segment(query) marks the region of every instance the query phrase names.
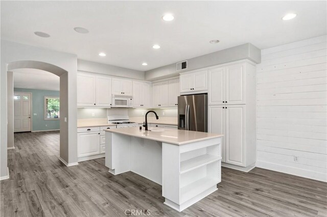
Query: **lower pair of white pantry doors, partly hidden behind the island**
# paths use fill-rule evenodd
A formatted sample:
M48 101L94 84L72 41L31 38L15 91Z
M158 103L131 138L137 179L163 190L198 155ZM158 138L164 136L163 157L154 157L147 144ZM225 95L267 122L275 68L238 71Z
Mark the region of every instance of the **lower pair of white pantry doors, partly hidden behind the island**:
M251 159L246 161L245 109L246 105L208 106L208 132L224 134L222 162L241 167L252 164ZM255 149L252 151L255 152Z

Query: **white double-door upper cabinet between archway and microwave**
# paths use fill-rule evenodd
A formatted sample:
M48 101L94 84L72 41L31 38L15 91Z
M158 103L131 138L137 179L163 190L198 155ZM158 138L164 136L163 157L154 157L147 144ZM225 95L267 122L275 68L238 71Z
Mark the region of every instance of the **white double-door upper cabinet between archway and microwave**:
M78 72L77 106L110 107L111 77Z

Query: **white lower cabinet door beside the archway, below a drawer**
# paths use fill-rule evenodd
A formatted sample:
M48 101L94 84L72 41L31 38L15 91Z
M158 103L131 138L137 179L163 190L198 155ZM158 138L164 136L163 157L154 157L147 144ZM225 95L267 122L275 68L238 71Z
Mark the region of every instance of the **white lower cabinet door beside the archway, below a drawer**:
M99 131L77 133L78 157L100 154Z

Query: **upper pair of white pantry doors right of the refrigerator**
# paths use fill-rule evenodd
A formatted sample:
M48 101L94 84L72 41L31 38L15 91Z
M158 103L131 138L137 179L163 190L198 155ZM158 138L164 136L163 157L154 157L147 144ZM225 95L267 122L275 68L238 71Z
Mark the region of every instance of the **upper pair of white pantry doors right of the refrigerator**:
M208 104L245 104L244 64L208 70Z

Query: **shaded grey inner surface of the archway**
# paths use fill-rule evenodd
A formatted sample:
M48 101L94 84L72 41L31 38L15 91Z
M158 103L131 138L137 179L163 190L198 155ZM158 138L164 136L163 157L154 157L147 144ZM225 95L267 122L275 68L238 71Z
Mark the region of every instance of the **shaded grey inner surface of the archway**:
M60 157L61 160L66 166L68 166L68 75L67 71L49 64L45 62L39 61L15 61L8 63L7 65L7 72L11 72L15 69L21 68L31 68L31 69L39 69L43 71L47 71L53 73L60 78ZM8 103L11 103L8 100ZM10 142L13 143L13 136L14 136L14 128L13 128L13 115L8 116L8 128L7 128L7 135L8 135L8 145ZM12 144L13 145L13 144Z

